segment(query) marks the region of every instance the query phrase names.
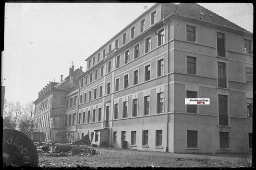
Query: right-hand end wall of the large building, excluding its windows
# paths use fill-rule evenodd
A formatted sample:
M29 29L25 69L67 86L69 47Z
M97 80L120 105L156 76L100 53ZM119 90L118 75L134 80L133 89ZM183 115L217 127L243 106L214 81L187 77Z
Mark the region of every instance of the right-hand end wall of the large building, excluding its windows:
M250 153L246 98L253 98L252 83L245 80L245 67L253 67L253 57L244 54L244 35L175 19L174 24L174 152ZM186 25L195 26L196 42L186 40ZM225 34L226 57L217 57L217 33ZM196 58L195 74L187 73L187 56ZM218 62L226 63L227 88L218 85ZM184 105L186 91L197 98L210 98L210 105L197 105L189 113ZM227 95L228 124L220 125L219 96ZM197 147L188 147L187 131L197 131ZM229 132L228 147L220 148L219 132Z

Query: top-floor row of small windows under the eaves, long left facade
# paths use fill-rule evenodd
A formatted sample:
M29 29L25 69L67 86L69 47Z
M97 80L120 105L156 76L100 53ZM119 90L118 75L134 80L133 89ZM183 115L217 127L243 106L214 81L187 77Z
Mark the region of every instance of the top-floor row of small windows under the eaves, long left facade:
M161 15L162 15L162 13L161 13ZM161 17L162 17L162 16L161 16ZM155 24L156 22L157 22L157 11L153 11L153 12L151 13L151 25ZM140 33L142 33L142 32L145 31L145 25L146 25L145 19L141 20L141 21L140 21ZM159 34L159 33L158 33L158 34ZM126 40L127 40L126 36L127 36L126 33L122 34L122 45L124 45L125 43L127 43L127 42L126 42ZM161 36L163 36L163 35L161 35ZM132 40L134 37L135 37L135 26L133 26L133 27L131 28L131 40ZM119 47L119 38L115 40L115 49L118 48L118 47ZM110 44L108 48L109 48L108 50L109 50L109 53L110 53L111 50L113 50L113 49L112 49L112 44ZM148 52L148 51L147 51L147 52ZM105 56L106 56L106 49L103 49L102 58L105 58ZM98 53L98 56L97 56L97 61L99 62L99 60L100 60L100 53ZM92 63L92 66L95 65L95 57L93 57L91 60L88 61L88 68L91 67L91 63Z

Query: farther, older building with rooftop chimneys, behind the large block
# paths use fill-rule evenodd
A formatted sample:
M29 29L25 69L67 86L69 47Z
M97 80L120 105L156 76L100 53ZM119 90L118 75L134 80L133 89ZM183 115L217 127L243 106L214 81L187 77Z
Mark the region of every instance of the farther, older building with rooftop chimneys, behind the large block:
M69 68L69 76L61 82L49 82L41 91L35 103L35 124L36 130L43 132L43 137L34 137L39 141L65 141L61 132L65 131L64 113L66 95L78 88L79 79L82 74L82 67L74 70ZM34 134L35 135L35 134ZM62 138L61 138L62 137Z

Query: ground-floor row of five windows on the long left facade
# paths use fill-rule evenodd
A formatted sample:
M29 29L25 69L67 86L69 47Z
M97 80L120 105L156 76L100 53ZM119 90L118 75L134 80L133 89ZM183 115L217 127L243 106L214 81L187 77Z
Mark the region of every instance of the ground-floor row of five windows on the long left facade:
M162 130L156 130L156 142L155 146L156 147L161 147L162 146L162 135L163 132ZM113 137L112 137L112 144L116 144L117 140L117 132L113 132ZM126 131L121 132L121 144L123 141L125 141L126 137ZM136 145L136 131L131 131L131 145ZM142 131L142 146L148 146L148 130L143 130Z

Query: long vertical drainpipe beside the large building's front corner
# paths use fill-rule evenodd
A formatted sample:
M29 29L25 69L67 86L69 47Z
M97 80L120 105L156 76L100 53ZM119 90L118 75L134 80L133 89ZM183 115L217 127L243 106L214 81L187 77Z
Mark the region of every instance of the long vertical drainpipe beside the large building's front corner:
M165 6L165 3L164 3ZM165 23L165 16L164 16L164 6L163 6L163 23ZM167 102L167 112L166 112L166 152L168 152L168 145L169 145L169 117L168 117L168 112L169 112L169 24L165 23L167 25L167 78L166 78L166 84L167 84L167 97L166 97L166 102Z

